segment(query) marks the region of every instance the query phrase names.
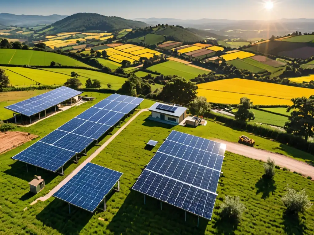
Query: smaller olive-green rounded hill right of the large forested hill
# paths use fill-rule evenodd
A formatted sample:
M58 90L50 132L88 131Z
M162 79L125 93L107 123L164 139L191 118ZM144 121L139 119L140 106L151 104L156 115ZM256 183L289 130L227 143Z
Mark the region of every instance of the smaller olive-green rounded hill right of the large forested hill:
M197 42L204 40L205 37L202 37L198 34L195 34L187 29L176 26L167 26L164 28L158 28L155 31L156 34L170 36L174 40L179 42Z

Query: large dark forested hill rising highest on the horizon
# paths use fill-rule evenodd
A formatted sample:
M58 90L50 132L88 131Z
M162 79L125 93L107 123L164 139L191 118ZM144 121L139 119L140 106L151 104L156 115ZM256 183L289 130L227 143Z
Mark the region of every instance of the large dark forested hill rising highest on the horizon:
M96 13L76 13L51 24L51 26L54 28L49 33L87 30L108 31L112 29L143 28L148 25L141 21L128 20L116 16L104 16ZM49 25L46 28L50 28L51 26Z

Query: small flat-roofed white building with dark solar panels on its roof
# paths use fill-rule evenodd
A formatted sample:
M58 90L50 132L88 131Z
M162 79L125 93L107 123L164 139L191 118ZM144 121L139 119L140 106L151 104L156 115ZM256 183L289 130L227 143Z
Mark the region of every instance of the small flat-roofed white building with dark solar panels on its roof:
M178 125L187 117L187 108L159 102L154 103L148 110L152 112L149 119L171 125Z

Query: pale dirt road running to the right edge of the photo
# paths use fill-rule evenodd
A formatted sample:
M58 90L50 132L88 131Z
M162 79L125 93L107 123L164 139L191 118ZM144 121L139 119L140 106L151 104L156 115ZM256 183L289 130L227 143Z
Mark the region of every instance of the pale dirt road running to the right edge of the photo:
M305 162L301 162L301 161L286 157L284 155L275 154L266 150L255 149L255 148L243 145L243 144L232 143L232 142L228 142L221 139L215 139L215 141L222 144L226 144L227 145L226 150L231 153L243 155L245 157L252 158L252 159L262 160L265 162L267 161L267 157L270 157L271 159L275 160L276 165L279 165L281 167L286 167L290 169L291 171L296 171L306 176L311 176L314 179L314 167L306 164Z

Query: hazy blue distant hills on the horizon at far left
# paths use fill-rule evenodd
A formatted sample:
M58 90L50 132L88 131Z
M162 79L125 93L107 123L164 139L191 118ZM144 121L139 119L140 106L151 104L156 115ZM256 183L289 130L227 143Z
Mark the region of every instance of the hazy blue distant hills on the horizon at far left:
M64 15L14 15L9 13L0 13L0 23L4 25L17 26L35 26L37 24L52 24L67 16Z

